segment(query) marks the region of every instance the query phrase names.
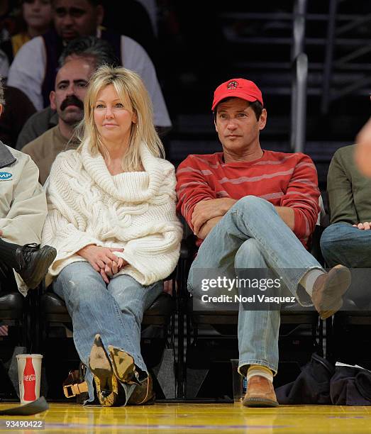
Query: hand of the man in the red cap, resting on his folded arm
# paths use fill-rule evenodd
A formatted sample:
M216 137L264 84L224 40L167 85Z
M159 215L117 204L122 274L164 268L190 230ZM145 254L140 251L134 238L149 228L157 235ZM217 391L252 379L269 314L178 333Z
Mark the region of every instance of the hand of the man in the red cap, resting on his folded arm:
M199 236L199 231L201 227L204 226L205 223L207 223L207 221L209 221L211 218L223 217L224 214L228 211L228 209L231 208L234 204L236 204L236 202L236 199L230 199L228 197L222 199L209 199L206 201L199 201L199 203L194 207L191 219L194 235L201 238ZM214 226L212 227L214 228Z

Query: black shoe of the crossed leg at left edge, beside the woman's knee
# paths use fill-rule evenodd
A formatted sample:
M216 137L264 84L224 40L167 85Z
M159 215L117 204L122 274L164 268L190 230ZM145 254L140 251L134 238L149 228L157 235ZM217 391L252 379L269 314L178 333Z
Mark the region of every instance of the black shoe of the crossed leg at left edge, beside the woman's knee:
M16 250L18 269L16 272L30 289L35 289L45 277L48 268L57 256L57 250L50 245L40 248L38 244L26 244Z

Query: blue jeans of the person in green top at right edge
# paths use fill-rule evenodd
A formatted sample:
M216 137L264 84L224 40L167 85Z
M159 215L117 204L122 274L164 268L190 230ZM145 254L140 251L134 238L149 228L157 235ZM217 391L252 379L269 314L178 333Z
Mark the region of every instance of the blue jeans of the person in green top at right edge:
M323 231L321 250L328 267L371 268L371 230L333 223Z

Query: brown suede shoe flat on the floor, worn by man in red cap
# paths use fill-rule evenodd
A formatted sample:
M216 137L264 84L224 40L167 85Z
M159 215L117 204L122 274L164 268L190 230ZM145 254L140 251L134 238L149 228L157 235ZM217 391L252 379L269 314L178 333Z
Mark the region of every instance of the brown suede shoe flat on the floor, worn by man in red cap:
M260 375L250 377L242 404L245 407L277 407L278 402L272 382Z

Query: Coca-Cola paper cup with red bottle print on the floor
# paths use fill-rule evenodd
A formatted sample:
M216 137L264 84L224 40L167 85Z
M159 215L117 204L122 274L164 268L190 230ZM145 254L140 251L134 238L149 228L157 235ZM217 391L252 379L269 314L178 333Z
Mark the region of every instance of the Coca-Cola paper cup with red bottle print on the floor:
M40 354L18 354L18 383L21 404L28 404L40 397L41 360Z

